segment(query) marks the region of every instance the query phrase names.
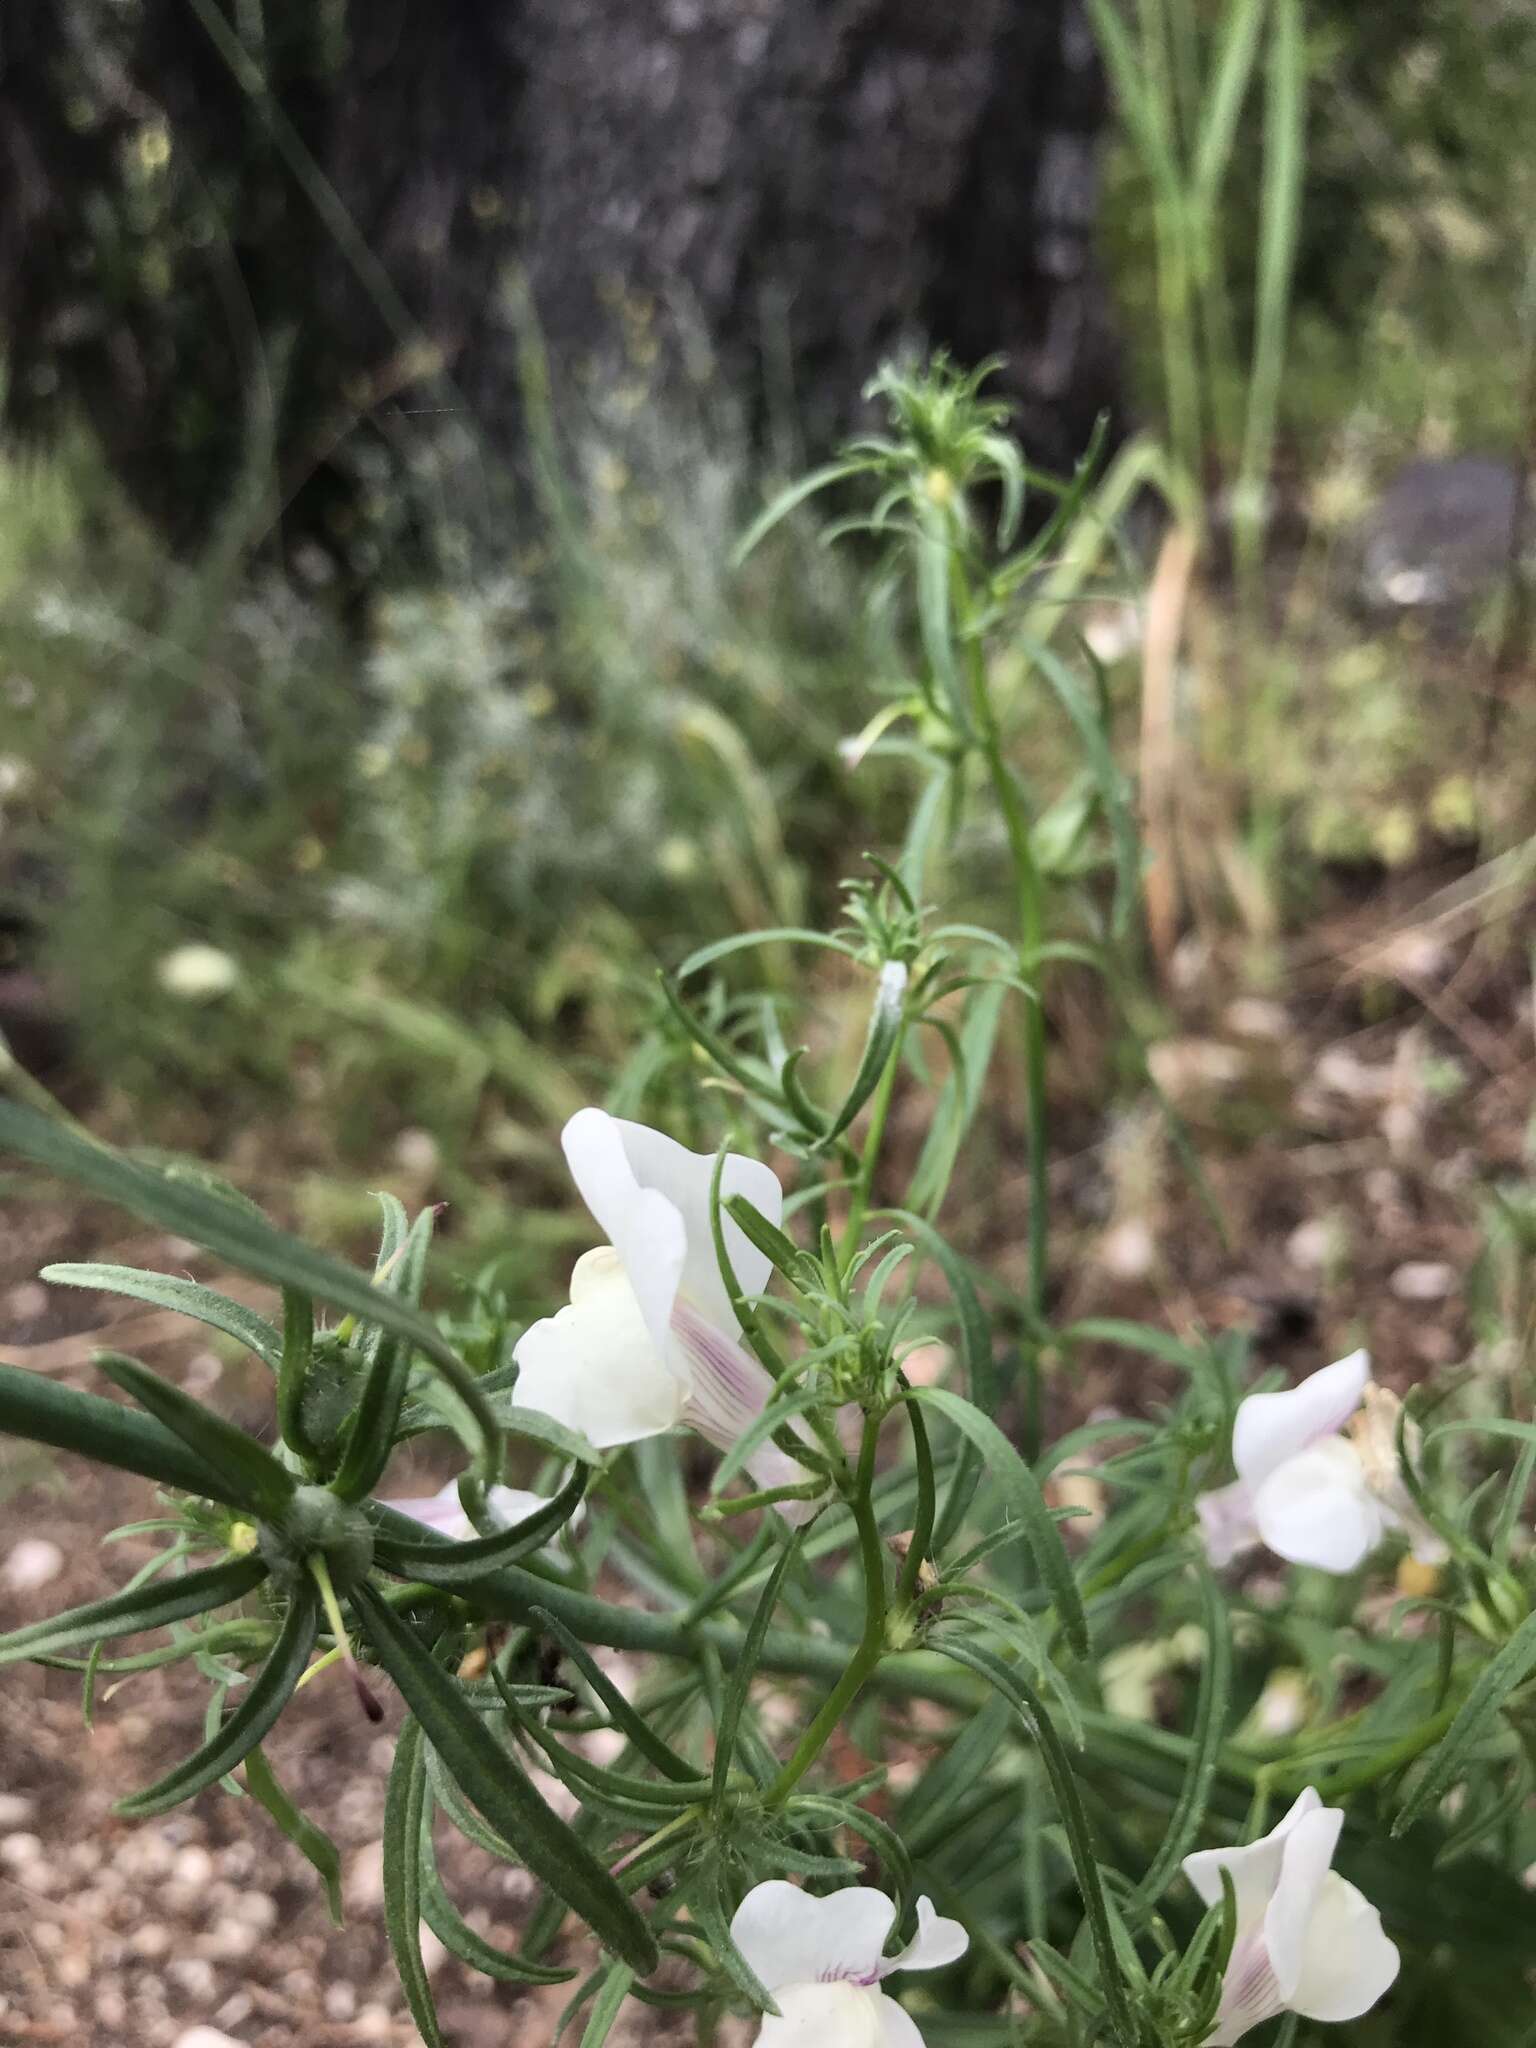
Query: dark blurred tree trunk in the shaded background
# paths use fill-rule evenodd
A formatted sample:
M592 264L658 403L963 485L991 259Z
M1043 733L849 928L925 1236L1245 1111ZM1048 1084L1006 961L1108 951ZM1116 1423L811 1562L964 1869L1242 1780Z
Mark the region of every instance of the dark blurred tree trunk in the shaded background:
M516 446L516 272L569 385L752 399L768 342L819 446L891 350L995 352L1063 467L1100 117L1081 0L6 0L8 416L84 406L182 543L268 459L336 543L401 412Z

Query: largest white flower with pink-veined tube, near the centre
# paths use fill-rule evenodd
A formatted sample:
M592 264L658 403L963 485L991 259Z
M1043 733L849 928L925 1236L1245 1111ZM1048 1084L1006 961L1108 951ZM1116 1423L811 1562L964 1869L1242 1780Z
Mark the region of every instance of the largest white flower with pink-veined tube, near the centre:
M774 1380L741 1348L715 1260L715 1159L604 1110L578 1110L561 1145L608 1243L575 1262L569 1309L518 1339L514 1401L580 1430L598 1448L686 1423L729 1450L772 1399ZM774 1225L784 1212L772 1169L737 1153L721 1171L721 1200L733 1194ZM741 1292L762 1294L768 1257L729 1217L721 1223ZM762 1444L748 1470L760 1487L811 1477L774 1444ZM813 1509L811 1501L784 1501L791 1520Z

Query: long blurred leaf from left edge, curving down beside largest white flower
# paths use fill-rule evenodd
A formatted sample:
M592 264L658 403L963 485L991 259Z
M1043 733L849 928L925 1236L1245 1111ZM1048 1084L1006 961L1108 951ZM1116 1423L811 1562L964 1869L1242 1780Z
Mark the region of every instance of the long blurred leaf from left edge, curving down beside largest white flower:
M209 1188L186 1171L143 1165L115 1153L37 1110L0 1102L0 1149L14 1151L61 1180L117 1202L147 1223L229 1260L242 1272L274 1286L293 1286L315 1300L371 1317L408 1337L453 1384L479 1432L477 1454L487 1481L496 1479L500 1434L475 1374L446 1341L432 1317L373 1286L352 1266L328 1257L303 1239L279 1231L246 1200Z

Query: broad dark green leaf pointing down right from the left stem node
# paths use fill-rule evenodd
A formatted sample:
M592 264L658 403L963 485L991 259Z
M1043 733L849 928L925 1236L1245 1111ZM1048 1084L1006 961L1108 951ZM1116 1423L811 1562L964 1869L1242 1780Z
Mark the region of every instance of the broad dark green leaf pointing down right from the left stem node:
M461 1688L369 1587L352 1608L399 1686L442 1763L528 1870L582 1915L598 1939L645 1976L655 1968L655 1937L633 1903L586 1843L535 1792L526 1772L485 1729ZM414 1858L412 1858L414 1864Z

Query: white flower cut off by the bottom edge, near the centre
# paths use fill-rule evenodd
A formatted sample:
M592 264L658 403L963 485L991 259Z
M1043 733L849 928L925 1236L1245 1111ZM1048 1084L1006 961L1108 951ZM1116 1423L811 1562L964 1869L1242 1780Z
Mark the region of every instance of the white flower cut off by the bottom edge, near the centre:
M915 1939L887 1956L893 1921L895 1905L864 1884L825 1898L782 1878L754 1884L735 1909L731 1939L780 2015L764 2017L758 2048L924 2048L881 1980L893 1970L940 1970L965 1954L969 1935L920 1898Z

